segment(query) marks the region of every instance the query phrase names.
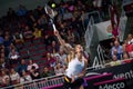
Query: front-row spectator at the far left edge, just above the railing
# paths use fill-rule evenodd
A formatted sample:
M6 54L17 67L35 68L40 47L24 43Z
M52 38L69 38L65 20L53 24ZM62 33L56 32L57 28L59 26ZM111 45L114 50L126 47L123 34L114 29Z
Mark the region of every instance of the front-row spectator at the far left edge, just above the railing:
M9 86L10 85L10 77L7 75L4 70L1 71L1 85Z

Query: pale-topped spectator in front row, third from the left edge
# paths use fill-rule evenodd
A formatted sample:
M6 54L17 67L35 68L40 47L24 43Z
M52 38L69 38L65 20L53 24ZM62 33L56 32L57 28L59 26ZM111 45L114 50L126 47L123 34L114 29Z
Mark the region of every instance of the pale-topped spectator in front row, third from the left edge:
M27 81L32 81L31 76L27 71L22 70L21 75L22 76L20 78L20 83L23 83L23 82L27 82Z

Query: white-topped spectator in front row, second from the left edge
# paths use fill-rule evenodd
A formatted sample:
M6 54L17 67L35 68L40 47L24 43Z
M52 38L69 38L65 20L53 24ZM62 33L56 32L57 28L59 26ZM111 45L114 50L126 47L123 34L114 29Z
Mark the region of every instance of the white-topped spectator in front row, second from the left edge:
M13 68L11 68L10 78L12 85L17 85L20 82L20 75Z

